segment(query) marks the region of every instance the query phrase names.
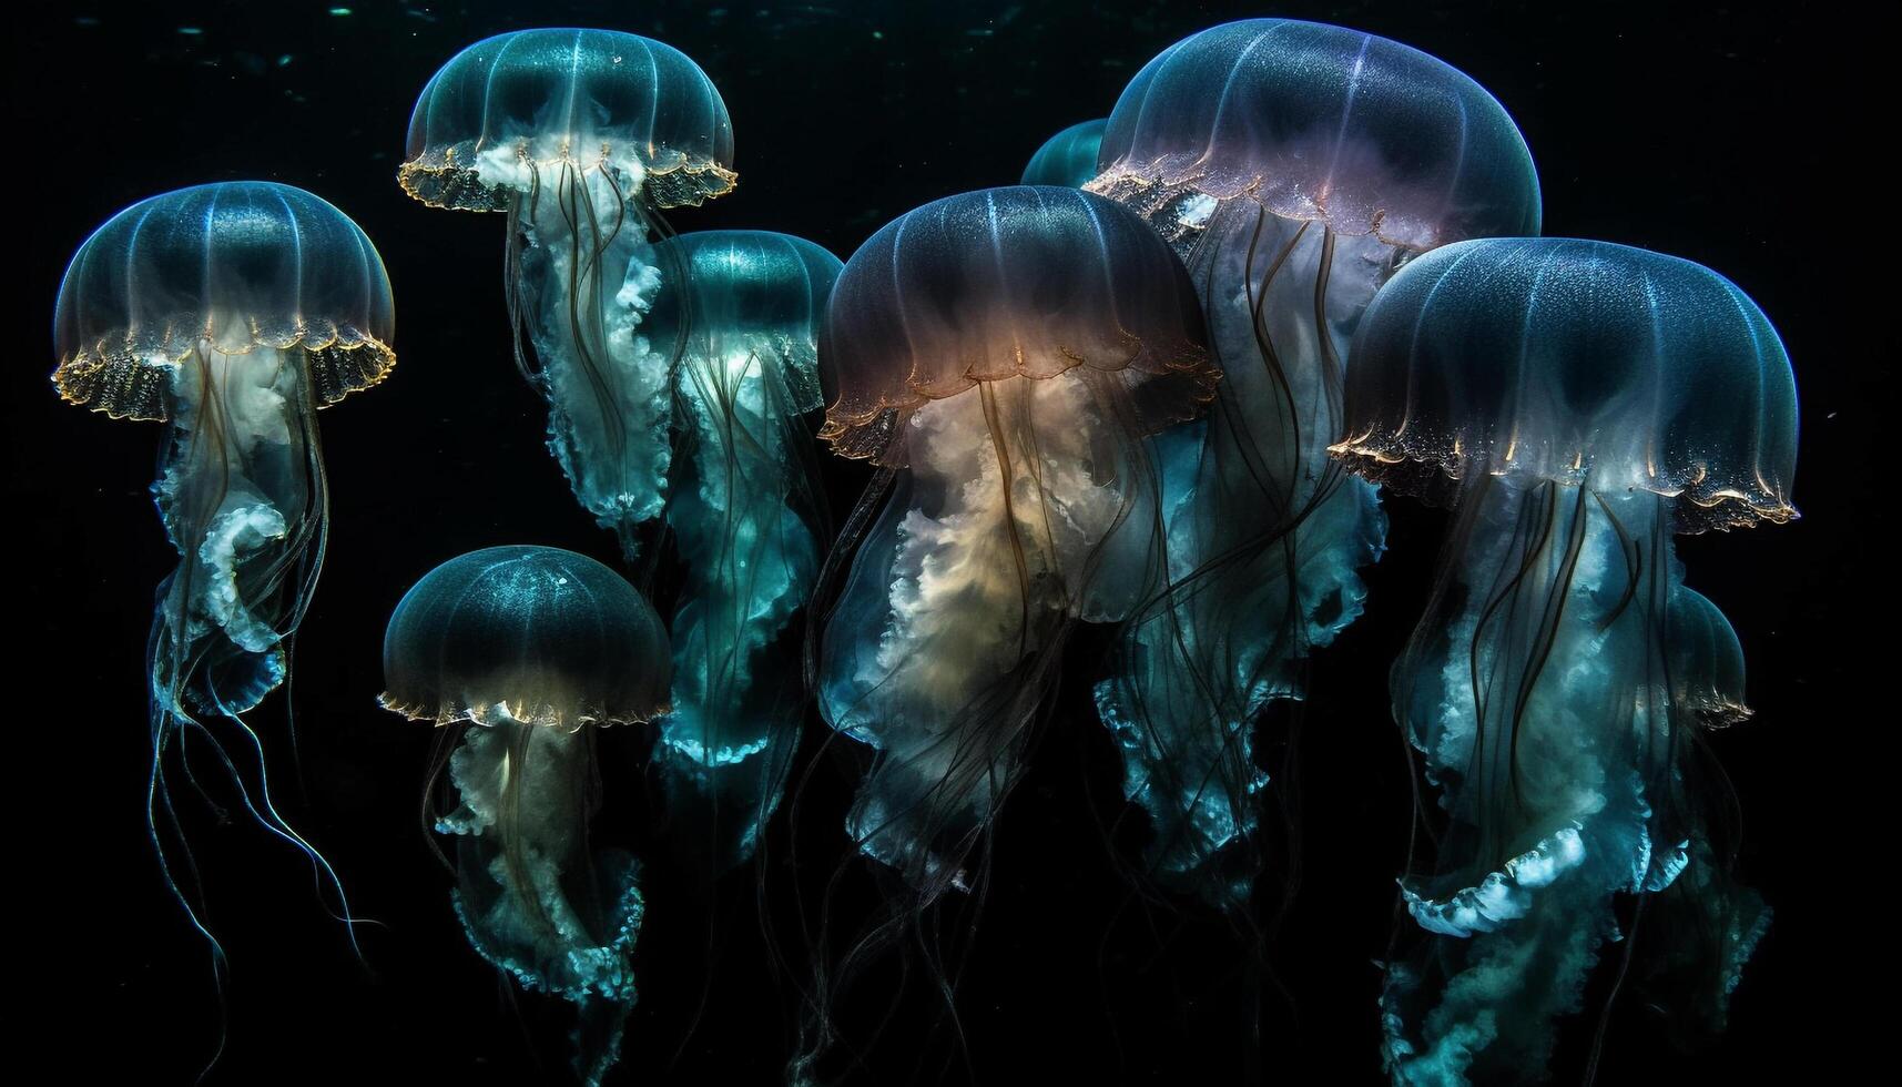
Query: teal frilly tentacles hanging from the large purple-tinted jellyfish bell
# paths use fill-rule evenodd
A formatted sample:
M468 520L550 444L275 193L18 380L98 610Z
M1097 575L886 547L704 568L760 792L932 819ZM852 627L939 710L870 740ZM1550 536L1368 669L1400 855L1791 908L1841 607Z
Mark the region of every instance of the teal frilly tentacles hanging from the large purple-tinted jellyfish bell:
M1301 699L1309 655L1360 617L1358 567L1387 533L1375 489L1326 451L1343 343L1377 282L1358 272L1383 253L1246 198L1196 223L1179 247L1212 291L1225 381L1204 425L1156 438L1172 600L1126 628L1096 697L1151 817L1147 870L1238 908L1261 868L1255 721Z

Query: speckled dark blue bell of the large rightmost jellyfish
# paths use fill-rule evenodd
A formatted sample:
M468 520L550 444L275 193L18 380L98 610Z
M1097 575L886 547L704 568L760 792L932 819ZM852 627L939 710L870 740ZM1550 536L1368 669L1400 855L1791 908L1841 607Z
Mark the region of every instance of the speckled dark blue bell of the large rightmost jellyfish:
M1354 472L1434 504L1482 476L1628 495L1683 533L1797 516L1795 377L1723 276L1571 238L1465 242L1413 265L1354 341L1369 354L1333 447Z

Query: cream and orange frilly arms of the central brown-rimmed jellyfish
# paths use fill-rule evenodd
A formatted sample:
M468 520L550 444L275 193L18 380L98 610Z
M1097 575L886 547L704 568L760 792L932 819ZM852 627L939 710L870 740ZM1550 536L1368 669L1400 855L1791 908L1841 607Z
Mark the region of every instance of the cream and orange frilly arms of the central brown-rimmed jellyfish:
M1153 466L1077 423L1113 426L1128 390L1073 371L978 392L915 413L822 661L827 720L879 752L854 841L926 895L968 881L1069 626L1120 619L1158 581Z

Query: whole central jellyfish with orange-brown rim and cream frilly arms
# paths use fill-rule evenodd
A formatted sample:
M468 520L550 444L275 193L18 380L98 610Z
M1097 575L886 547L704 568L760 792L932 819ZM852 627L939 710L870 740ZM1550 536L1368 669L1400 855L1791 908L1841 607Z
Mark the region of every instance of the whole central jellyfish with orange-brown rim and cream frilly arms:
M1215 383L1181 265L1073 188L989 188L871 236L833 289L820 367L835 451L884 508L818 661L820 710L877 750L860 849L932 900L1021 771L1075 621L1162 577L1145 434Z

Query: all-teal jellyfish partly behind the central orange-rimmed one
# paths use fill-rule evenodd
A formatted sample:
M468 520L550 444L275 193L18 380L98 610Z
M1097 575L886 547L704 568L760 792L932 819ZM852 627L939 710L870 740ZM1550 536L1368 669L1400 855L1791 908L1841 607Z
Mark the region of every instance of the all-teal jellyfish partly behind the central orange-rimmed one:
M825 501L814 421L818 322L839 257L765 230L656 246L649 324L681 345L666 525L681 556L673 712L656 763L670 811L706 811L713 857L749 857L786 784L805 718L799 626L820 565ZM675 286L681 284L681 286Z

